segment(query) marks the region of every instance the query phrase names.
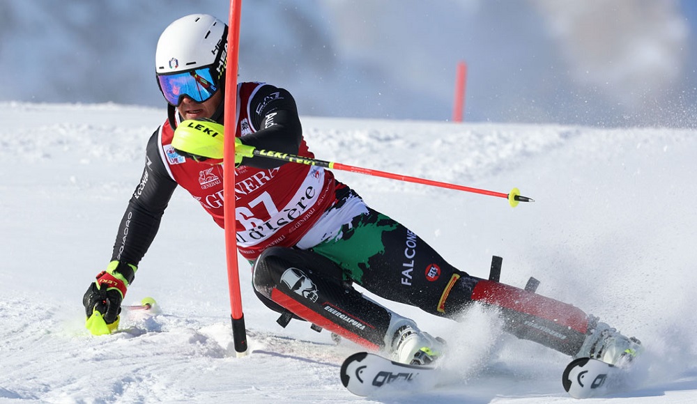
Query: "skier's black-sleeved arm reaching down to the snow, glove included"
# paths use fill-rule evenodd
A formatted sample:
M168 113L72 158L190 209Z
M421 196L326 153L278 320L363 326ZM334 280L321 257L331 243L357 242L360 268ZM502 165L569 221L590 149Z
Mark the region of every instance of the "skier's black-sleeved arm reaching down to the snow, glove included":
M156 131L148 141L143 175L118 226L111 262L107 270L97 275L82 298L86 327L92 334L109 334L118 327L118 313L126 289L155 239L164 209L176 189L176 182L160 158L159 147Z

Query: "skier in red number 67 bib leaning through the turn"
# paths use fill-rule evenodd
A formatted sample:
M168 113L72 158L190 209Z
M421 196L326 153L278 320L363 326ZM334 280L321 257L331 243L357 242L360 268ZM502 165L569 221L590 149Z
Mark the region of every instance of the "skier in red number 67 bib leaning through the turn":
M204 14L171 23L158 41L155 75L167 119L152 134L139 185L121 219L111 262L87 289L86 327L118 326L121 302L153 242L177 186L224 226L223 124L236 128L238 251L252 263L254 291L281 313L307 320L403 363L428 364L445 344L415 322L369 300L457 318L475 302L500 311L507 332L572 357L615 364L641 349L576 307L470 276L418 235L369 207L332 172L254 157L253 148L314 157L293 96L256 82L237 87L236 122L223 122L227 25Z

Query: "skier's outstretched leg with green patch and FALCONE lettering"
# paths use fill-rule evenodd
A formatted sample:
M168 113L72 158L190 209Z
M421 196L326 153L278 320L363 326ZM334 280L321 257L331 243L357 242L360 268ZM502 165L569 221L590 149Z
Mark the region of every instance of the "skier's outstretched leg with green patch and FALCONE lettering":
M571 304L470 277L418 235L372 209L312 250L339 263L347 277L376 295L448 318L457 318L473 302L487 304L500 311L507 332L567 355L599 356L608 352L602 348L607 340L600 336L602 329L619 335Z

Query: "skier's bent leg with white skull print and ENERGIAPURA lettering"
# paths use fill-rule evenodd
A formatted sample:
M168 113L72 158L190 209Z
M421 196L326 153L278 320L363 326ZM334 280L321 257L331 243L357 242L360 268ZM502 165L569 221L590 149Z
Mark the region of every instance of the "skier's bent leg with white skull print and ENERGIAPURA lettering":
M254 263L254 289L267 306L410 363L415 352L441 343L415 323L367 299L341 280L342 270L309 251L272 247Z

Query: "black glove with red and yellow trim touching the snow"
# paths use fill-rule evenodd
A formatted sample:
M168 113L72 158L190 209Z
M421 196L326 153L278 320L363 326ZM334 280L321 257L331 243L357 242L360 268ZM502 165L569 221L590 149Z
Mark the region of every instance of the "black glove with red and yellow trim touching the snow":
M110 334L118 327L121 302L136 271L135 265L112 261L87 288L82 304L87 316L85 326L92 334Z

